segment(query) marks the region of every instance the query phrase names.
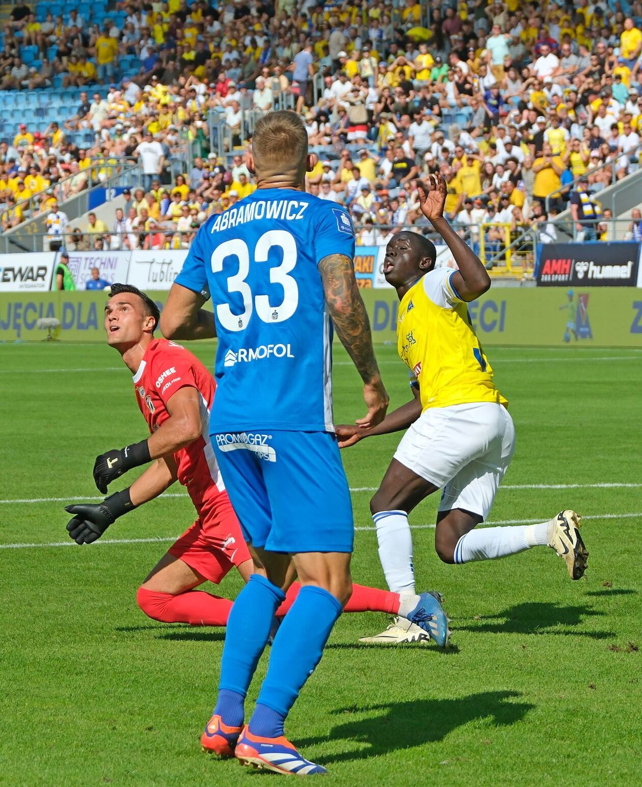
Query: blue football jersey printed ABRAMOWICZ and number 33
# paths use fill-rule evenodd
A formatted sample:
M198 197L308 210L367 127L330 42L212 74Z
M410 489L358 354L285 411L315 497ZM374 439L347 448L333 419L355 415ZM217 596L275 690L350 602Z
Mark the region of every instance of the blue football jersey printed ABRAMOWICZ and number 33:
M196 234L176 283L212 299L218 390L212 433L332 431L332 322L317 264L354 257L347 211L259 189Z

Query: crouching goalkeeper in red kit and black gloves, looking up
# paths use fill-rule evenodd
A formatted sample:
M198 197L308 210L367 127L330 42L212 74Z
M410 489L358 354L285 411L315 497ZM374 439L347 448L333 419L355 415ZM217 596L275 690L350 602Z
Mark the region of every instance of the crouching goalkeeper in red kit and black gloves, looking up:
M209 439L216 384L189 350L154 338L159 316L154 301L141 290L112 284L105 306L107 343L134 375L136 401L150 437L97 456L94 480L98 490L107 493L123 473L153 464L131 486L100 504L68 505L65 510L74 516L67 530L77 544L90 544L119 516L178 480L192 499L197 519L142 583L138 605L150 618L166 623L225 626L233 602L195 588L207 580L218 584L233 566L247 581L254 567ZM288 611L298 591L295 582L277 615ZM400 603L398 593L353 585L345 611L397 615ZM417 634L420 638L429 641L428 634Z

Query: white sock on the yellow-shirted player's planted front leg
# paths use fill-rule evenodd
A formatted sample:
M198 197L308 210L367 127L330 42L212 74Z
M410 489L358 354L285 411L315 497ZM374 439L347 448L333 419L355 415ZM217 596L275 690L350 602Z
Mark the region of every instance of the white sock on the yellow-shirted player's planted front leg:
M405 511L372 514L379 541L379 558L388 587L394 593L415 593L413 536Z

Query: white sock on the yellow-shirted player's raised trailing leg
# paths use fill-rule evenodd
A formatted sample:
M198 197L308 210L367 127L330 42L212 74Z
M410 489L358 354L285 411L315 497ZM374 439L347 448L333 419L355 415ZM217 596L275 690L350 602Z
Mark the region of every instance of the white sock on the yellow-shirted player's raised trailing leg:
M464 534L455 547L455 563L497 560L532 546L546 546L548 522L515 527L482 527Z

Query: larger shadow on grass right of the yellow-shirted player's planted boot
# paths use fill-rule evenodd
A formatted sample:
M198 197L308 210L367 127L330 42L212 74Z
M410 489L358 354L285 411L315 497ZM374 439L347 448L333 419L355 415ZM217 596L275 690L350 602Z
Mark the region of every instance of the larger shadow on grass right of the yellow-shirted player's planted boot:
M571 607L554 602L536 601L516 604L497 615L487 615L477 625L454 626L456 631L486 632L488 634L563 634L592 639L613 637L611 631L554 631L555 626L581 626L585 618L603 615L590 607Z

